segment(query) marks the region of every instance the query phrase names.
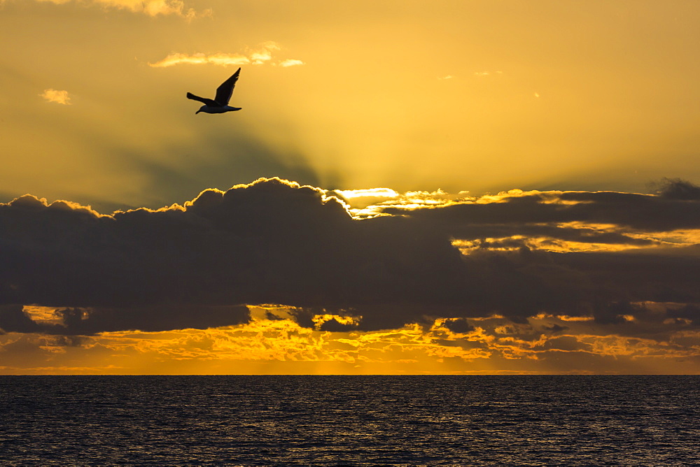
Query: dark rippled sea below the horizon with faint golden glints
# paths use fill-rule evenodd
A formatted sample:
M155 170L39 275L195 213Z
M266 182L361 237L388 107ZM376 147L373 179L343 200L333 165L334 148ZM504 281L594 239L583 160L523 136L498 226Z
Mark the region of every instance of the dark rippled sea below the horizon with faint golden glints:
M698 376L3 376L0 464L694 464Z

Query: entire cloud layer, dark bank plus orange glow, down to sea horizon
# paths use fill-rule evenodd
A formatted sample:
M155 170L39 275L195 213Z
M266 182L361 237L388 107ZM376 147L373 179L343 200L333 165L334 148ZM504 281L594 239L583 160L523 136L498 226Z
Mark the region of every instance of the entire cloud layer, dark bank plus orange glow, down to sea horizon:
M114 371L689 371L699 203L682 180L475 198L273 178L112 215L21 196L0 204L3 352Z

